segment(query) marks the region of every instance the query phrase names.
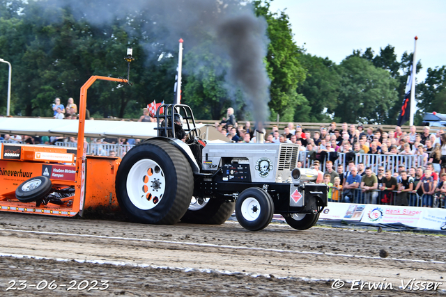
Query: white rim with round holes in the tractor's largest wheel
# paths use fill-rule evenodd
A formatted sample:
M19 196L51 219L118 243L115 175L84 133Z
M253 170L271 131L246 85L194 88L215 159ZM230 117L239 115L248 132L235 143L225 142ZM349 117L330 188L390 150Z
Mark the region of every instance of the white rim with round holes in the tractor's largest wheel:
M128 172L128 198L139 209L153 209L162 200L165 189L164 172L161 166L151 159L137 161Z

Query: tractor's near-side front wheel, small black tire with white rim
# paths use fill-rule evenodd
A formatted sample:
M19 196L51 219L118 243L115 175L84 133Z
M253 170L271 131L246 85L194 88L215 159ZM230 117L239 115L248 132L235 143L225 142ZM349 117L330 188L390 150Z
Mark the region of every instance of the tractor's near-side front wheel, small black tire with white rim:
M247 230L259 231L271 223L274 202L262 188L247 188L238 195L236 217L238 223Z

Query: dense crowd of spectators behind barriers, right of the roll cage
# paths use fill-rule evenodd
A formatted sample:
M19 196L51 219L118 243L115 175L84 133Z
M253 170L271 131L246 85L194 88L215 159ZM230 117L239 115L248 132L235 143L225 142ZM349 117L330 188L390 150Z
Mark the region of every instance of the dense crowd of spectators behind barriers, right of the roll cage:
M215 128L233 142L256 142L257 129L250 122L238 125L235 119L224 118L222 122L215 122ZM330 186L330 201L445 208L446 134L443 129L435 134L427 126L422 133L417 133L415 126L409 132L401 131L399 126L383 131L346 122L338 129L332 122L318 131L309 131L290 122L283 129L272 126L268 134L265 129L261 130L264 143L300 145L305 154L304 163L324 172L324 182ZM345 155L344 162L337 162L334 168L339 154ZM371 156L367 159L369 163L355 163L357 154ZM403 156L417 158L409 167ZM298 167L301 166L302 160L298 162ZM372 166L378 168L377 172Z

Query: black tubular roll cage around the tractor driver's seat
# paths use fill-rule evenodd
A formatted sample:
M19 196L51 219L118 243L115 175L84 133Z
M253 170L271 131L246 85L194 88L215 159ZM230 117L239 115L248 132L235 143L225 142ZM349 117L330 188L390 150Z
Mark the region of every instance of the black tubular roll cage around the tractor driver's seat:
M164 109L164 113L162 114L160 114L161 109ZM172 125L175 122L175 113L179 113L183 117L183 120L185 120L185 123L183 122L183 129L186 133L197 129L194 113L192 113L192 109L189 106L185 104L161 104L158 106L155 115L157 120L157 127L155 129L157 130L158 136L171 136L175 138L175 129L174 125ZM184 124L187 125L187 128L184 127Z

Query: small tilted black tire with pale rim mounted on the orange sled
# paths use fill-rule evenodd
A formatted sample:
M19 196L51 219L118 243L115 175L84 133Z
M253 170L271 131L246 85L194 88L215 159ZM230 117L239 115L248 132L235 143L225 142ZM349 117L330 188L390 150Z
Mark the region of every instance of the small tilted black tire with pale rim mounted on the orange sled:
M52 182L48 177L31 177L15 190L15 198L20 202L33 202L47 197L52 191Z

